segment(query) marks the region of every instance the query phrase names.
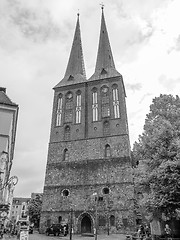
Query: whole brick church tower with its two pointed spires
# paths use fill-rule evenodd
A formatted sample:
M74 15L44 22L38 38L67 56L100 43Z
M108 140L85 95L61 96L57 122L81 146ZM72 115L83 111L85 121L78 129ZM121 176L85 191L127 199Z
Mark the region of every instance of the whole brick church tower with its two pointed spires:
M41 231L67 222L74 233L134 227L134 187L122 75L116 70L102 7L94 74L87 80L79 15L54 103ZM70 227L71 228L71 227Z

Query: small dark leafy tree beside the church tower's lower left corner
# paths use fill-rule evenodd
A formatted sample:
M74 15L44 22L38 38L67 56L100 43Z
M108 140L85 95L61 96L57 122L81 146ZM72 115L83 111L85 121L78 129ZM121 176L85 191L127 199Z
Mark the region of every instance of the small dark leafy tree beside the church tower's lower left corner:
M30 222L34 223L35 227L39 227L40 215L42 208L42 199L39 194L36 194L36 197L30 200L28 206L28 214Z

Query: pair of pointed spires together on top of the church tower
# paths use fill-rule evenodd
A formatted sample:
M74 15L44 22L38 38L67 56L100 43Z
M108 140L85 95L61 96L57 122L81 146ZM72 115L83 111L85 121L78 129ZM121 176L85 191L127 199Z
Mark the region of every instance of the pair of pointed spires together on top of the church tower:
M79 13L77 15L76 29L67 69L64 78L55 86L55 88L87 81L81 43ZM118 71L115 69L102 7L101 29L96 67L94 74L88 79L88 81L115 76L120 76L120 73L118 73Z

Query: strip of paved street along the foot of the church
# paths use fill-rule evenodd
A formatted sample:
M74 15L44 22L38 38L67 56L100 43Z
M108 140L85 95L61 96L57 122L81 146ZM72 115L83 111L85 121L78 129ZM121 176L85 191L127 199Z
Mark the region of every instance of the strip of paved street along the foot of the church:
M16 237L8 237L4 236L3 240L16 240ZM69 235L64 237L54 237L54 236L46 236L45 234L33 233L29 235L29 240L69 240ZM123 234L111 234L111 235L98 235L97 240L125 240L126 236ZM72 240L94 240L94 237L84 237L81 235L73 235Z

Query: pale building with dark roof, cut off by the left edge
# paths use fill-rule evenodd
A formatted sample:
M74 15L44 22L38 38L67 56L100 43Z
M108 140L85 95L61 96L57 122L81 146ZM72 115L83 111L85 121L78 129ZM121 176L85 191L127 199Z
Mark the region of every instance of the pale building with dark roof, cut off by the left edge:
M18 105L6 94L6 88L0 87L0 204L11 203L15 177L11 182L10 171L14 157ZM1 212L1 208L0 208Z

